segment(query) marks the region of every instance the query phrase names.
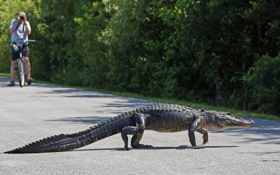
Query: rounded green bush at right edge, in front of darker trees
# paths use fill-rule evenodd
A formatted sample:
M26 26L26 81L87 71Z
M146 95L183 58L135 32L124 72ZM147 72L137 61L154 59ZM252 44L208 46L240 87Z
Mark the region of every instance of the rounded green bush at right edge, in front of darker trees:
M246 81L251 85L253 106L280 115L280 55L262 56L251 68Z

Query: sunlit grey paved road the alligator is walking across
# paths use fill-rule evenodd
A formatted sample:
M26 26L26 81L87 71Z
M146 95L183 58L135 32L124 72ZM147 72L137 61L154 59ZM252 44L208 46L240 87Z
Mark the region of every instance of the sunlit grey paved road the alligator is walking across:
M4 87L0 78L0 174L279 174L280 123L209 133L209 144L189 149L186 132L146 131L151 149L122 151L120 134L76 151L3 154L54 134L85 130L139 106L141 99L34 83ZM200 134L197 142L201 143ZM187 146L186 146L187 144Z

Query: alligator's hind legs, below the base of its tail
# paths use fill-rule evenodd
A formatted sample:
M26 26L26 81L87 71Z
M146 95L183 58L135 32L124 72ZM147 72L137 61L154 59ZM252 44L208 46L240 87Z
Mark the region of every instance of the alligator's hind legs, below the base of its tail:
M123 141L125 142L125 150L127 150L127 151L130 150L128 148L127 134L133 134L133 137L131 140L131 146L133 148L151 148L151 147L153 147L151 145L139 144L139 142L143 136L144 130L145 130L145 115L142 113L136 113L135 119L136 119L137 127L127 126L127 127L123 127L123 129L121 131Z

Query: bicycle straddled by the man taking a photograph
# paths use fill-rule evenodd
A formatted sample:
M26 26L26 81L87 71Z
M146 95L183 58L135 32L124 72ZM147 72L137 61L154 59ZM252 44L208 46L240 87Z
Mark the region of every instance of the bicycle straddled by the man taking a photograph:
M23 60L22 57L22 51L27 47L29 42L36 42L35 40L29 40L23 43L22 45L17 45L16 41L12 43L13 52L19 53L19 57L17 58L17 65L18 67L15 67L15 70L18 72L18 81L20 83L20 87L25 86L25 60Z

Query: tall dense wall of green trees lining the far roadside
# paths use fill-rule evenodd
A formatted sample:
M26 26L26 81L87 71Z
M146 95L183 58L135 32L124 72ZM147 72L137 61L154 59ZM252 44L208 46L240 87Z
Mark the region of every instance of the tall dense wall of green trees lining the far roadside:
M35 78L275 113L276 101L261 105L264 93L245 76L262 55L280 51L280 1L0 0L0 5L0 71L9 70L4 41L10 20L25 10L30 38L38 41L31 45Z

